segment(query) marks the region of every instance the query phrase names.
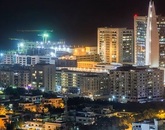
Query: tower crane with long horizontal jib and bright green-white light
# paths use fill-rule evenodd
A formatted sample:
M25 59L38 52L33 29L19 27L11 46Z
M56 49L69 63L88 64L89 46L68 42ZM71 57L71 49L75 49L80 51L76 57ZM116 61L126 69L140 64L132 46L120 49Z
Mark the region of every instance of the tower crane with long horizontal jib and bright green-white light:
M44 43L47 43L47 39L49 37L48 33L52 33L53 30L17 30L18 32L42 32L42 34L38 34L41 36Z

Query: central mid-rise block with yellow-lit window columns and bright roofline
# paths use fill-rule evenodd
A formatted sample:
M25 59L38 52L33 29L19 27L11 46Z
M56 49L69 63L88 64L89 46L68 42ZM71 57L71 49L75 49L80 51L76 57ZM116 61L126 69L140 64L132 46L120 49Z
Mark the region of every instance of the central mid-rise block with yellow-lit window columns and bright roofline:
M63 91L64 88L67 91L70 88L79 88L81 93L107 94L107 75L107 71L101 69L97 71L83 68L59 69L56 71L56 91Z

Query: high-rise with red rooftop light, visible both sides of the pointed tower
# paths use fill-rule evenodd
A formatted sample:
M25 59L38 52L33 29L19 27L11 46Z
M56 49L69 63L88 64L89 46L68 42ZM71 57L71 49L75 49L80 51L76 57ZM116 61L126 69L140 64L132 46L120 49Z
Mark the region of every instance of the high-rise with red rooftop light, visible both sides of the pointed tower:
M159 34L159 67L165 67L165 17L157 16ZM134 16L135 64L145 65L147 16Z

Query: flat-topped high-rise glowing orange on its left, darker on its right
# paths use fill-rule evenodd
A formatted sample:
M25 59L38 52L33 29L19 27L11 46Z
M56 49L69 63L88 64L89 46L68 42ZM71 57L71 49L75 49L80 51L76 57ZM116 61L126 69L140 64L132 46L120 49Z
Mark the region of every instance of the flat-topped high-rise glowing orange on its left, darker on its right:
M98 28L97 53L103 63L133 63L133 30Z

